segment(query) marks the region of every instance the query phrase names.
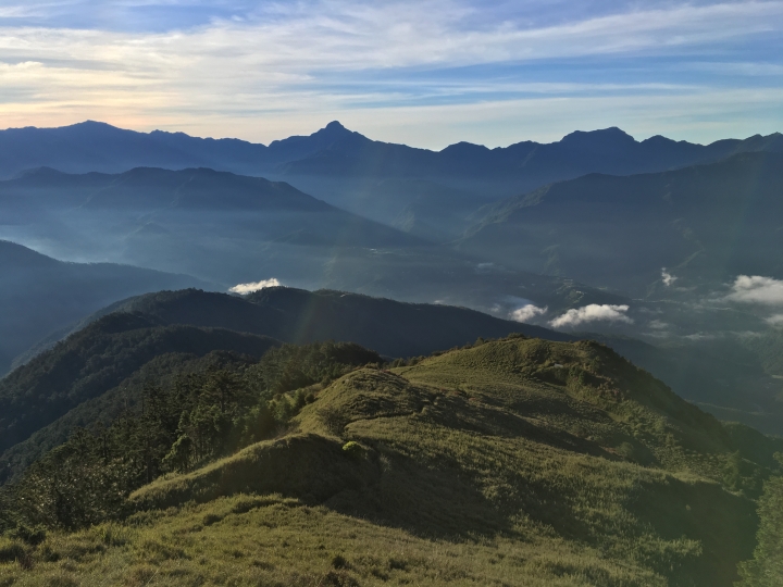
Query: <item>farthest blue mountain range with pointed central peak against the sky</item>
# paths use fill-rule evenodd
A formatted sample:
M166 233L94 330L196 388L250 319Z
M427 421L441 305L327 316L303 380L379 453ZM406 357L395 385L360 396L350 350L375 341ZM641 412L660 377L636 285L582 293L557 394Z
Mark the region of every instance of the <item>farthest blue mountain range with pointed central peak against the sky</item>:
M701 146L660 136L636 141L619 128L607 128L572 133L551 143L523 141L488 149L460 142L431 151L371 140L338 122L269 146L85 122L0 132L0 176L39 166L111 174L140 166L211 167L283 179L371 220L449 240L478 207L551 182L588 173L660 172L756 151L783 151L783 136Z

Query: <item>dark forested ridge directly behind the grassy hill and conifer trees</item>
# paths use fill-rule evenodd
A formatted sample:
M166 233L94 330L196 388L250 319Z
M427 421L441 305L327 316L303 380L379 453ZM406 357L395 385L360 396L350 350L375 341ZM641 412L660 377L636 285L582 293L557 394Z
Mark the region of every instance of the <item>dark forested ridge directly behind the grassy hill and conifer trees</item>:
M136 402L144 386L126 382L164 355L226 351L260 357L274 341L343 340L389 357L430 354L523 332L571 337L472 310L409 304L339 291L268 288L247 298L201 290L162 291L115 303L0 379L0 462L11 471L63 442L77 427L110 422L116 396ZM112 396L112 397L113 397ZM103 402L103 403L101 403ZM103 408L100 405L103 404Z

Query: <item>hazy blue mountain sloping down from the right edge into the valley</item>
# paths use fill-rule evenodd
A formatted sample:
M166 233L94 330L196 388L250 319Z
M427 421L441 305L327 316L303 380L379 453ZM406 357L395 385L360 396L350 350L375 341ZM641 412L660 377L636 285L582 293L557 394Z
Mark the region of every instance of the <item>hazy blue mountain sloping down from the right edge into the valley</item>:
M783 278L781 193L783 153L591 174L487 207L458 248L634 297L676 297L738 274ZM661 267L676 287L663 283Z

